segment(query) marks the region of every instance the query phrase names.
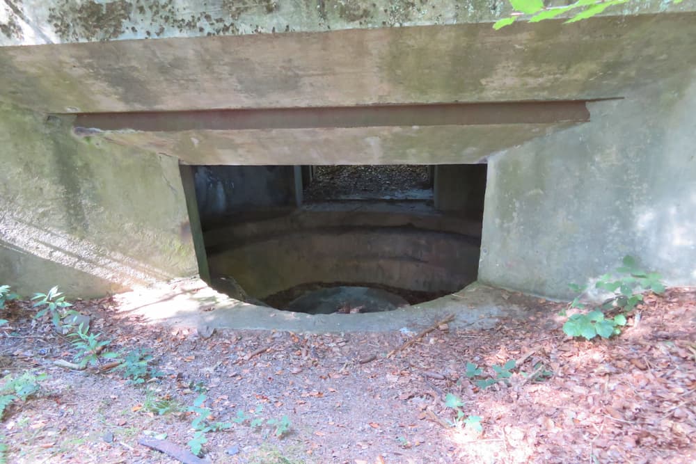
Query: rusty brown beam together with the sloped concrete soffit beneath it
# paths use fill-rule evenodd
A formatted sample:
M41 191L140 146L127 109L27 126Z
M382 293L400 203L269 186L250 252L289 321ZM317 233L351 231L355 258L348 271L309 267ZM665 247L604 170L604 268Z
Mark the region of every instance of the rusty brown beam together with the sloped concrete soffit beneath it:
M590 119L585 102L86 113L83 138L189 164L477 163Z

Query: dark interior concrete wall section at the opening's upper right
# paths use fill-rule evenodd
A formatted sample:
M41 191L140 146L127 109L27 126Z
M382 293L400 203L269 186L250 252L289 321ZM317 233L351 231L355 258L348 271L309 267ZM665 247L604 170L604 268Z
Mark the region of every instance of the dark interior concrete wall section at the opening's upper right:
M482 216L487 165L439 164L434 169L435 208Z

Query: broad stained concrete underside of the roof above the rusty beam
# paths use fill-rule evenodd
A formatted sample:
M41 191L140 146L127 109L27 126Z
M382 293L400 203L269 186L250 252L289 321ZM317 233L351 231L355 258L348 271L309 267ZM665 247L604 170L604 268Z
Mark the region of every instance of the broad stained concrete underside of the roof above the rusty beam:
M0 98L56 113L597 99L685 69L695 43L696 13L665 13L0 47Z

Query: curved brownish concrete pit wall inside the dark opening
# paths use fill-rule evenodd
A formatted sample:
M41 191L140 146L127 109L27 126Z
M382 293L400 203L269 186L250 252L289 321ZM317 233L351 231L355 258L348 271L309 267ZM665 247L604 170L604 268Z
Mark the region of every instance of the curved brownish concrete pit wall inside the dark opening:
M359 285L420 296L413 304L476 280L480 223L425 206L372 205L373 211L362 212L331 207L207 232L213 285L224 291L220 278L233 278L261 301L294 287Z

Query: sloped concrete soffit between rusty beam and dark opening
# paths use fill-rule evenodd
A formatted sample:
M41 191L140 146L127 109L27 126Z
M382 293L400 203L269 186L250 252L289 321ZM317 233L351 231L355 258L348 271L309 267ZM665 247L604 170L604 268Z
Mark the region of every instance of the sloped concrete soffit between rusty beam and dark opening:
M583 123L584 124L584 123ZM205 165L477 163L574 123L90 134Z

